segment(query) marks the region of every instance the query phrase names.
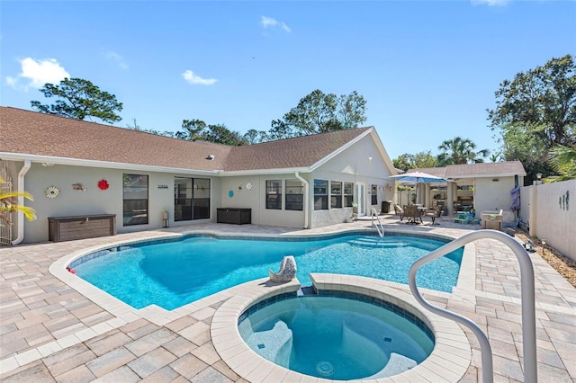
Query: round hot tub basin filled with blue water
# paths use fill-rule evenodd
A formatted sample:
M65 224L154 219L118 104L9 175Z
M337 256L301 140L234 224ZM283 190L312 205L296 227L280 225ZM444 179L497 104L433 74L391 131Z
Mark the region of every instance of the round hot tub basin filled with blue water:
M401 307L329 295L259 302L239 317L240 336L268 361L334 380L396 375L416 367L434 349L428 327Z

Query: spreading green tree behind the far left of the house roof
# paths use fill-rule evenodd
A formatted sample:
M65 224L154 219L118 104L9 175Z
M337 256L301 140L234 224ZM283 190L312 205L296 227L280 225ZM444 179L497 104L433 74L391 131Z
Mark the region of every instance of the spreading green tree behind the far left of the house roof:
M47 114L56 114L76 120L90 120L92 118L114 123L121 117L115 111L122 110L122 103L116 96L103 92L98 86L81 78L65 78L59 85L46 84L40 88L45 97L59 97L51 105L42 105L39 101L32 101L31 107Z

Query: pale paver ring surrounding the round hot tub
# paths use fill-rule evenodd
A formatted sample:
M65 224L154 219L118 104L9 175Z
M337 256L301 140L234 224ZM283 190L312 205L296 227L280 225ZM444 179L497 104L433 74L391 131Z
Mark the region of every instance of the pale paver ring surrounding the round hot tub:
M317 289L354 292L382 299L418 316L432 330L435 347L425 361L411 370L387 378L357 379L366 383L394 381L457 382L472 362L472 348L464 331L454 322L419 308L408 286L400 283L343 274L311 273ZM247 381L330 382L333 380L303 375L267 361L252 351L238 331L238 317L250 306L285 292L300 289L297 280L275 284L266 278L236 286L236 294L226 300L214 313L211 322L211 341L222 361Z

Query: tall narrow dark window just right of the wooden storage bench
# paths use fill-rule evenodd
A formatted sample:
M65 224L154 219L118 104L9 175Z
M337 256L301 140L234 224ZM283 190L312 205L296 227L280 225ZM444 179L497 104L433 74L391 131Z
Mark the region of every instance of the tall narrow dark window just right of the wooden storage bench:
M124 174L122 198L123 225L148 224L148 175Z

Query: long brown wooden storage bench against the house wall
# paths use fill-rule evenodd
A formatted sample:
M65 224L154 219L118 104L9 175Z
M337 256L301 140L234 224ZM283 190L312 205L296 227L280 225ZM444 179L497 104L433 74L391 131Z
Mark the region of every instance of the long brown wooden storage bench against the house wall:
M115 235L115 214L48 218L48 237L53 242Z

